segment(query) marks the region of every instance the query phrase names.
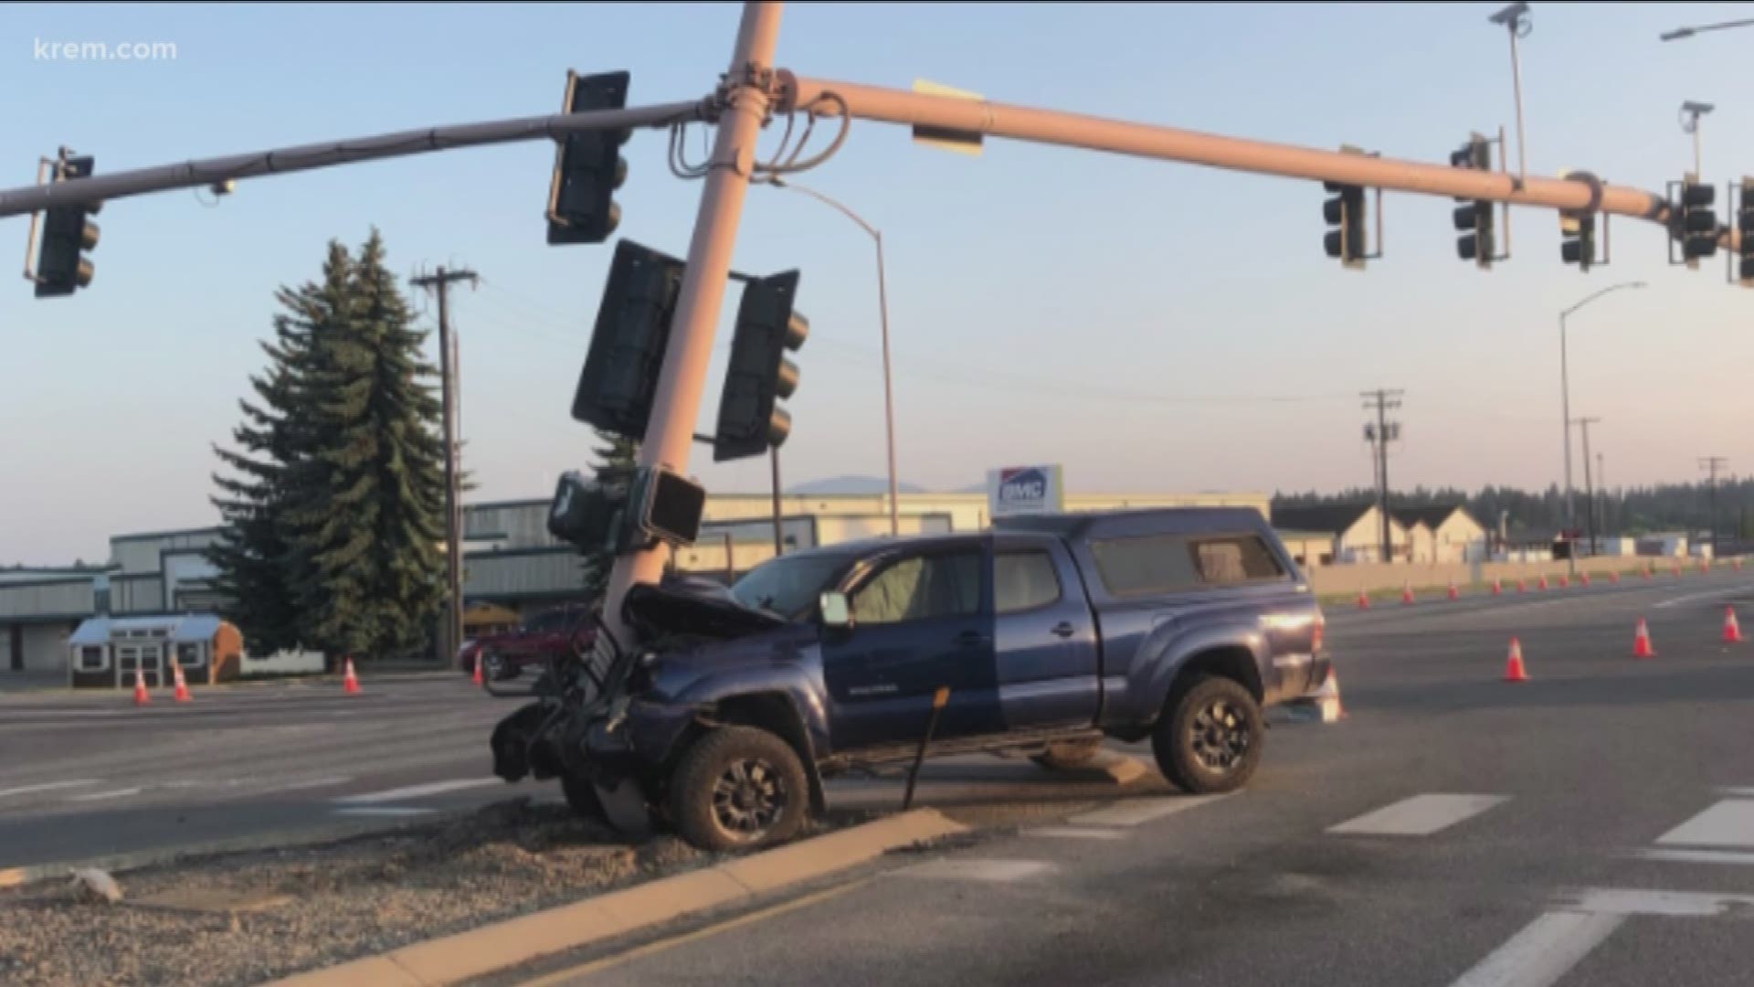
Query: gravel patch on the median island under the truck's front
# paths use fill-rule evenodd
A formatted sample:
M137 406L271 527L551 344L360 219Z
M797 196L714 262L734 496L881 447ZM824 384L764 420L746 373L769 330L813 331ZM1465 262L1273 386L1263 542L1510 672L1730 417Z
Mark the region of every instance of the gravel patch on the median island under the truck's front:
M393 834L118 875L116 904L70 882L0 892L0 983L242 987L710 862L672 836L628 845L563 804L514 799ZM293 901L261 911L130 904L189 889Z

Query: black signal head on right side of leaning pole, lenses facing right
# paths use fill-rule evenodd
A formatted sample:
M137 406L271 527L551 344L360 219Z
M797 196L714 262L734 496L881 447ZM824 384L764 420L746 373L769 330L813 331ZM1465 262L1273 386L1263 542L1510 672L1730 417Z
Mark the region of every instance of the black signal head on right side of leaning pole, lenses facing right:
M791 434L791 414L779 402L798 388L798 367L786 353L803 346L810 335L810 320L793 311L796 295L796 270L744 285L724 393L719 397L714 462L761 455Z

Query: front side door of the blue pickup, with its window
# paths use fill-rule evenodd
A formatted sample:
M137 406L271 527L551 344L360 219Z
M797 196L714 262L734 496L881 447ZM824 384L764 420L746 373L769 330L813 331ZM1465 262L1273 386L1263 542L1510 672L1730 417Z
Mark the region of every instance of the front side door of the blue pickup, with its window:
M852 625L823 639L837 752L917 741L940 687L951 697L937 738L1003 729L989 551L963 543L896 553L851 588Z

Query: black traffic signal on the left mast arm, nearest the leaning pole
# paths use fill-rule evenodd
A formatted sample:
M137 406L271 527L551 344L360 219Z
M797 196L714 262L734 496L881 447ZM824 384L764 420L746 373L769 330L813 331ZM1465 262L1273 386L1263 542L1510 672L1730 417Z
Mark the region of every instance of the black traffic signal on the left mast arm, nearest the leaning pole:
M567 72L565 112L621 109L628 105L628 74L577 76ZM600 244L621 223L614 191L628 177L621 146L626 128L568 133L554 149L549 183L549 244Z

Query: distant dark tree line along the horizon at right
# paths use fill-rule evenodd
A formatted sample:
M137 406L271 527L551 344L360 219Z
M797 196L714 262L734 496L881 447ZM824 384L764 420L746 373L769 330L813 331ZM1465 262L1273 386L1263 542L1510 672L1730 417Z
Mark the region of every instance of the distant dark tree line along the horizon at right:
M1577 527L1586 527L1589 497L1575 490ZM1337 494L1273 494L1273 508L1314 508L1328 504L1373 504L1375 490L1351 488ZM1454 486L1398 490L1393 506L1463 504L1477 522L1498 530L1500 513L1517 530L1559 530L1565 527L1565 492L1554 483L1540 492L1515 486L1482 486L1466 492ZM1754 478L1717 481L1717 532L1724 537L1754 537ZM1638 536L1665 530L1712 530L1712 492L1707 481L1658 483L1654 486L1617 486L1596 490L1596 527L1603 534Z

